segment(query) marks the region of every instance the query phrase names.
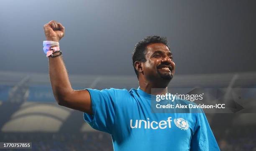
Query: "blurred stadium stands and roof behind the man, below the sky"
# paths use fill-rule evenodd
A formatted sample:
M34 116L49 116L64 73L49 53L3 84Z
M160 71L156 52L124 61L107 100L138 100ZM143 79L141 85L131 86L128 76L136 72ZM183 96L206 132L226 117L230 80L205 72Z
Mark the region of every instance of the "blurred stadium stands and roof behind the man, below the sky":
M228 87L256 88L256 72L175 76L170 88ZM135 76L70 75L74 89L138 86ZM112 151L109 134L92 129L81 111L56 104L49 75L0 72L0 141L32 141L35 151ZM4 79L4 80L2 80ZM125 86L125 87L124 87ZM256 106L256 102L251 102ZM243 111L243 110L241 110ZM256 114L206 114L219 146L224 151L255 150ZM141 142L143 143L143 142Z

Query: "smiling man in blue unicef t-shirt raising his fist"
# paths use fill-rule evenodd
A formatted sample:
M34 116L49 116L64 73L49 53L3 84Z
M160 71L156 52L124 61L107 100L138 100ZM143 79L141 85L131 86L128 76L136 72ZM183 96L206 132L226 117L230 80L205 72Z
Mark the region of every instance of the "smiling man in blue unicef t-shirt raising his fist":
M59 42L64 27L44 25L46 39ZM54 47L54 46L53 46ZM218 151L203 113L151 112L151 89L167 93L175 64L167 40L146 37L136 44L133 67L138 89L73 90L62 57L49 57L49 74L59 105L84 112L92 128L111 134L115 151Z

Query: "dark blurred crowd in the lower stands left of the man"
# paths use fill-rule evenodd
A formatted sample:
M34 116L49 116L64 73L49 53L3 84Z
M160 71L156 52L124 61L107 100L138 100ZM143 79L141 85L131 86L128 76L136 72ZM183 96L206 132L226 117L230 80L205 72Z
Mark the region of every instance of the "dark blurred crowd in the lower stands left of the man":
M1 141L32 142L32 151L113 151L109 134L4 134ZM26 150L26 149L22 149ZM27 149L31 151L31 149ZM1 149L0 149L1 151ZM5 151L7 151L5 149ZM17 151L9 149L8 151Z

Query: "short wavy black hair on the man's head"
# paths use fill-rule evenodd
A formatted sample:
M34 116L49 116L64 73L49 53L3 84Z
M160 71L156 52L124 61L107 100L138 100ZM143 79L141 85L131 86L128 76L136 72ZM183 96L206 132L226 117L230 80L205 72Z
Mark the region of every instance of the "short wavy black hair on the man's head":
M134 62L136 62L136 61L146 62L146 57L145 57L146 47L147 47L147 45L153 44L153 43L162 43L162 44L166 45L168 47L168 49L170 50L166 37L152 35L152 36L145 37L143 40L139 41L135 45L135 48L132 53L133 54L133 68L134 68L134 71L135 71L137 77L138 77L138 71L136 70L136 68L134 66Z

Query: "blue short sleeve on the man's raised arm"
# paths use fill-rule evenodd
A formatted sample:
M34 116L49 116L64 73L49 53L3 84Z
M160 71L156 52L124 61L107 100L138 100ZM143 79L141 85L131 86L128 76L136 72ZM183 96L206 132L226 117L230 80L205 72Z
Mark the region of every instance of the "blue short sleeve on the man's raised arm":
M84 120L93 129L111 134L115 120L115 90L87 90L91 96L92 115L84 113Z

